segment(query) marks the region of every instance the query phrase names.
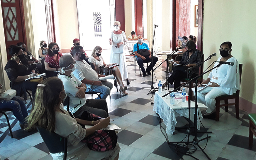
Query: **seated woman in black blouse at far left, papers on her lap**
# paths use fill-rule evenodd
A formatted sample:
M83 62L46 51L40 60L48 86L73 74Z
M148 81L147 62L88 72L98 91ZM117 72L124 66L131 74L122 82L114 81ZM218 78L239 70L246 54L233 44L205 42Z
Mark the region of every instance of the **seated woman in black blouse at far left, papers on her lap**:
M27 100L26 90L32 91L34 98L39 83L25 81L25 79L36 76L35 70L23 59L24 53L21 47L11 45L8 49L12 58L7 62L4 70L11 81L10 85L12 89L16 90L17 96L24 94L25 100Z

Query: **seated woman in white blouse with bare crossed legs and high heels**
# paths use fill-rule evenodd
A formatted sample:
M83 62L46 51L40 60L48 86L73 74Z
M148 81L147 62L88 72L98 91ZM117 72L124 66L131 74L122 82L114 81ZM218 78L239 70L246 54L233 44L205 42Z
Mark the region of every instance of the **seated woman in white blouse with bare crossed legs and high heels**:
M89 62L94 65L94 69L97 73L99 73L101 67L109 68L109 66L116 64L116 63L105 64L103 58L101 57L101 52L102 52L102 48L100 46L96 46L93 49L93 52L91 53L91 57L88 59ZM113 75L117 79L117 83L120 86L119 92L125 96L128 95L128 93L125 92L127 90L127 86L125 86L122 81L122 76L121 76L120 70L118 69L117 66L115 66L112 68L112 71L113 71Z

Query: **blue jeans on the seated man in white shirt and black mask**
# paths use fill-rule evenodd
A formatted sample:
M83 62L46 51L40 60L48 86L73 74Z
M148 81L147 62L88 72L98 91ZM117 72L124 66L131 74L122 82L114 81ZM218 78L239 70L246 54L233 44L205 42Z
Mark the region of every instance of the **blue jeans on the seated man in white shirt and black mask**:
M86 92L100 92L101 99L106 99L110 95L110 90L113 88L113 84L108 81L101 81L103 85L92 85L87 87ZM99 97L95 99L100 99Z

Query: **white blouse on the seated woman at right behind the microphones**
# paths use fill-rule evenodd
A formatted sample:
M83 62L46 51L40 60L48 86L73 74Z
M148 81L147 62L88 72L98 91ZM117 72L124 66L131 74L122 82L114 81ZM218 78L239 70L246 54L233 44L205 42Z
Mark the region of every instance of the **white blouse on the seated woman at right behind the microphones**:
M221 58L222 57L219 57L218 61L220 61ZM239 63L234 57L228 59L227 62L234 62L234 65L230 66L227 64L222 64L218 68L213 69L208 78L211 79L211 82L220 85L219 88L222 89L226 94L231 95L240 89ZM218 64L219 63L215 63L214 67Z

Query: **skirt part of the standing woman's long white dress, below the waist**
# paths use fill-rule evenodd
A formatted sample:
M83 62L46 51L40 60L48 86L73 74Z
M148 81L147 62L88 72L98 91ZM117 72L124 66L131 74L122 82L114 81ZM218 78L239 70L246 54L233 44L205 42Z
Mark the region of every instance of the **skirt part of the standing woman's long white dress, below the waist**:
M122 79L128 78L128 69L127 69L126 58L124 53L113 53L111 49L110 63L119 64L119 66L117 67L120 70Z

